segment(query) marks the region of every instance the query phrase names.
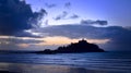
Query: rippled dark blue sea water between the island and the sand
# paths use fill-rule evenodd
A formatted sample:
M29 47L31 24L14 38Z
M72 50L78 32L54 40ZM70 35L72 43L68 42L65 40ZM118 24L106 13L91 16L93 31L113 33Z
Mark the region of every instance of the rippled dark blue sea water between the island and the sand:
M131 52L0 53L0 63L57 64L131 73Z

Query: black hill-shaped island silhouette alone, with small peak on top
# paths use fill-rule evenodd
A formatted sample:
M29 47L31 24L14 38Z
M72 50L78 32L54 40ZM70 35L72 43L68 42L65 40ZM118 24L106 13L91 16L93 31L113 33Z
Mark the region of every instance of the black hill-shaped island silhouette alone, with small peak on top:
M90 44L86 40L82 39L79 42L72 42L68 46L58 47L56 50L46 49L44 51L37 51L36 53L80 53L80 52L104 52L105 50L100 49L95 44Z

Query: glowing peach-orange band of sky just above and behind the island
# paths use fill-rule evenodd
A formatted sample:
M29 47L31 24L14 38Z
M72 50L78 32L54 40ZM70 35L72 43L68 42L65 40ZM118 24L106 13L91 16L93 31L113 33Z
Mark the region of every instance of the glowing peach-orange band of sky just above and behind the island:
M71 42L78 42L79 40L81 40L82 38L68 38L68 37L63 37L63 36L53 36L53 37L43 37L43 38L28 38L28 37L13 37L13 36L0 36L0 38L3 39L12 39L12 41L10 40L3 40L0 41L0 45L4 44L4 45L15 45L16 41L13 41L13 39L17 38L17 39L23 39L23 40L27 40L27 39L33 39L33 40L41 40L41 42L37 42L37 44L33 44L33 42L28 42L28 44L16 44L17 47L21 48L28 48L31 46L62 46L62 45L69 45ZM62 41L61 41L62 40ZM85 38L86 41L88 42L93 42L93 44L106 44L108 41L110 41L110 39L87 39ZM50 49L55 49L55 48L50 48Z

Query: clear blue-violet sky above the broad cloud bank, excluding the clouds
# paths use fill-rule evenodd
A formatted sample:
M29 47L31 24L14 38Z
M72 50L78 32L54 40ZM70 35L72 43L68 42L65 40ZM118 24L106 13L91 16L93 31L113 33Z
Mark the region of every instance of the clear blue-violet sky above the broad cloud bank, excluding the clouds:
M63 24L66 22L79 23L81 20L106 20L109 25L130 26L131 23L131 0L26 0L32 4L33 10L46 9L50 24ZM64 4L70 2L70 8ZM48 9L45 3L56 4ZM75 20L53 21L52 17L62 11L69 14L78 14ZM70 24L70 23L67 23Z

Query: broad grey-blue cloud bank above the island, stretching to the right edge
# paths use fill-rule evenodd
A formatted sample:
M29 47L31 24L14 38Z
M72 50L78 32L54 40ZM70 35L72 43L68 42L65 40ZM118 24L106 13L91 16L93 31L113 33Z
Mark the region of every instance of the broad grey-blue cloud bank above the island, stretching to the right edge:
M59 25L37 29L37 32L48 34L45 36L110 39L108 44L104 45L104 47L108 47L108 50L131 50L131 31L121 26L94 27L86 25Z

